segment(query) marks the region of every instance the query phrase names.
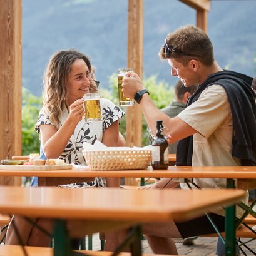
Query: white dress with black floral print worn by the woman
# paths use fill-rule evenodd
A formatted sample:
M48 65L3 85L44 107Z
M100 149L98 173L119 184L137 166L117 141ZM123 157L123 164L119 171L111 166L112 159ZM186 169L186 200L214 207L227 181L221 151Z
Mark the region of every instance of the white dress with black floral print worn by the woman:
M75 163L76 165L86 165L86 160L84 159L82 150L83 150L83 142L86 141L88 143L95 143L96 140L102 141L103 131L105 131L112 123L116 120L120 120L125 112L123 112L118 106L112 103L110 100L105 98L100 99L101 105L101 121L88 122L85 121L84 118L79 121L76 126L73 135L68 141L66 148L59 158L64 159L66 163ZM52 123L49 120L48 115L44 115L43 110L39 112L38 121L36 123L35 130L40 133L40 125L54 125L57 129L63 125L64 121L68 118L68 110L64 110L59 120L60 123ZM91 187L102 186L105 183L105 179L103 178L95 178L94 182L84 182L84 183L76 183L72 186L78 187Z

